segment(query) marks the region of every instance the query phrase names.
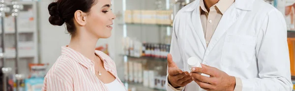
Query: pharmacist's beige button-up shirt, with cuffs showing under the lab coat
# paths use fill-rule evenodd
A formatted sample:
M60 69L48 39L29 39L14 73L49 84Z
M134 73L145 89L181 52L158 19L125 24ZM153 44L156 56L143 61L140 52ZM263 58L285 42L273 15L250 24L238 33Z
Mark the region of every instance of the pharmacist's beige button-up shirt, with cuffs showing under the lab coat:
M200 0L200 18L205 35L206 44L210 43L211 37L226 10L235 2L235 0L219 0L207 11L204 0ZM170 84L169 87L173 88ZM173 88L175 91L181 91L183 87ZM236 77L236 87L234 91L242 91L241 79Z

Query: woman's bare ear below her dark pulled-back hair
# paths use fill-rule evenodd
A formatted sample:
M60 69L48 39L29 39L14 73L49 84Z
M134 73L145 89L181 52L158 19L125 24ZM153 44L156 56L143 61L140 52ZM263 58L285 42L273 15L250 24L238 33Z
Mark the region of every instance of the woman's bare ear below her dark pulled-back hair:
M86 24L86 18L87 18L87 14L84 13L81 10L77 10L74 14L75 17L75 21L80 24L81 26L84 26Z

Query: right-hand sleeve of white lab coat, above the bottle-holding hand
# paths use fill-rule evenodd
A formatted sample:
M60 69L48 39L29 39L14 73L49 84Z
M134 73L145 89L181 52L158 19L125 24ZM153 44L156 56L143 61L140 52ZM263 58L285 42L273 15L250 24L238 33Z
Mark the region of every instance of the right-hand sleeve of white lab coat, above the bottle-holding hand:
M242 91L292 91L287 27L281 12L265 17L256 45L257 78L243 79Z

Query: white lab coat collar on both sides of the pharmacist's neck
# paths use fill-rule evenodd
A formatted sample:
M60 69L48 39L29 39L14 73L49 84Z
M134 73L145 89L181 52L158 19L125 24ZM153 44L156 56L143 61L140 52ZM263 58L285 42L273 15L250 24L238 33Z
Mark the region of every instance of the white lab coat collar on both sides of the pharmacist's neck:
M253 9L253 2L254 0L235 0L234 5L238 9L251 11ZM195 0L188 5L189 6L184 7L183 9L187 12L191 12L200 6L200 0Z

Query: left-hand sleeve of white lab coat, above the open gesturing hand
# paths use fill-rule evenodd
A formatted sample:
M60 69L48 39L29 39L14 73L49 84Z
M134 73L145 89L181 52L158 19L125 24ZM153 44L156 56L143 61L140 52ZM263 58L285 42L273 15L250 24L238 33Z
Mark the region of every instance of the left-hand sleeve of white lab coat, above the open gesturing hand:
M178 14L177 14L178 15ZM177 31L178 31L178 23L179 23L179 18L175 17L174 23L173 23L173 32L172 32L172 39L171 39L171 46L170 46L170 54L172 55L173 61L176 63L177 67L181 70L183 70L183 61L181 58L181 52L179 49L179 45L177 42ZM168 68L167 68L168 69ZM173 88L171 85L168 83L168 70L167 70L167 76L166 76L166 90L167 91L180 91L184 90L184 88L178 88L180 90L177 90L176 88Z

